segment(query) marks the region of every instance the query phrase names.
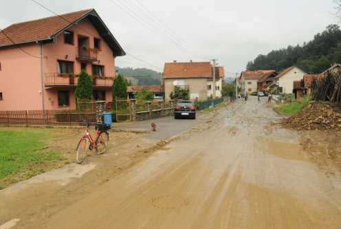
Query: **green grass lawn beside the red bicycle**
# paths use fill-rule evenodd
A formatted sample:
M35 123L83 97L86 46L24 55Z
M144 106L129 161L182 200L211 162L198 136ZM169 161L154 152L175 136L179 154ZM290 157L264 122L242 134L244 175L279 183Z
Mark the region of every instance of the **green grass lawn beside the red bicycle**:
M33 132L0 132L0 189L43 173L49 163L65 160L44 143L43 139L49 137L50 130L39 128Z

